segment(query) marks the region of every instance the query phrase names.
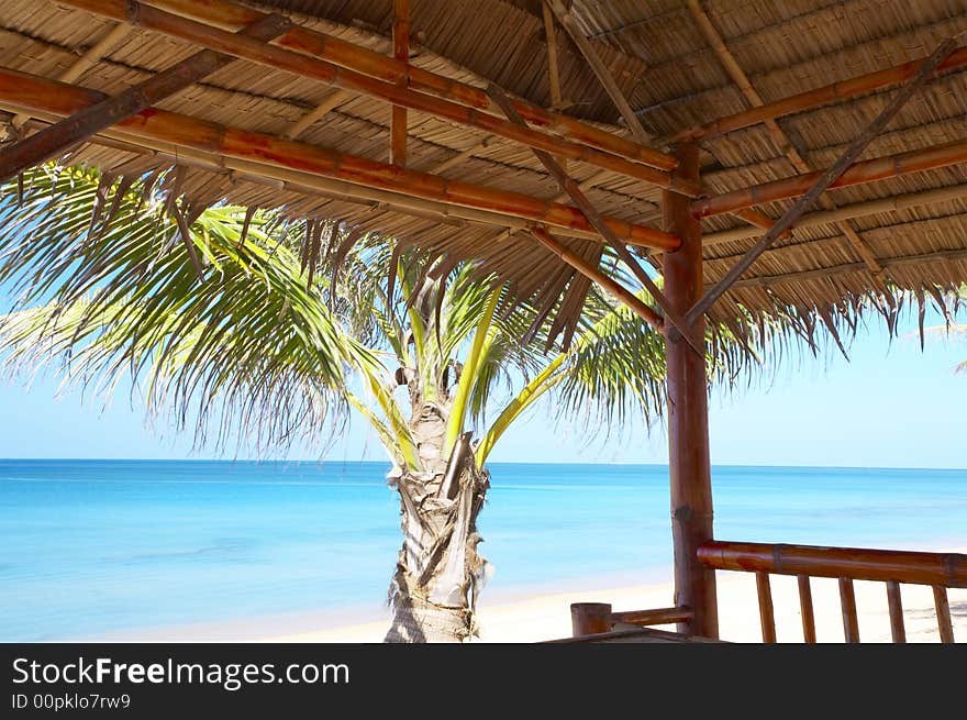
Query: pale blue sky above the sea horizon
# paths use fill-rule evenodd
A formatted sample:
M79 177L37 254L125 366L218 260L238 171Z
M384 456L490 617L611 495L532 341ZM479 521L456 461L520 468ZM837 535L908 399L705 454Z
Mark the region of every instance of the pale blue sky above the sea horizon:
M936 317L927 321L937 322ZM927 337L921 353L908 319L892 343L878 323L841 355L804 357L779 369L768 386L722 398L711 410L712 462L744 465L833 465L967 468L967 335ZM0 457L184 458L190 439L145 427L141 408L120 392L102 409L57 378L0 386ZM646 435L581 442L580 429L557 425L535 408L497 447L492 461L666 463L663 428ZM201 452L193 457L212 457ZM315 457L305 451L294 456ZM376 440L353 423L329 459L384 459Z

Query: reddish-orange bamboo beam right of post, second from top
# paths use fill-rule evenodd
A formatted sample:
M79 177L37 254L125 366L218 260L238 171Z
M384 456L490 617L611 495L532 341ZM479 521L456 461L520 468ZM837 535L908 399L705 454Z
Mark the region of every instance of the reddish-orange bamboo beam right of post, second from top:
M932 145L922 149L856 163L843 173L838 179L830 184L829 187L830 189L835 189L853 185L864 185L911 173L934 170L959 163L967 163L967 141ZM701 198L691 203L691 209L696 215L707 218L723 212L734 212L742 208L751 208L765 202L801 197L821 177L822 173L808 173L771 182L763 182L762 185L743 188L733 192L723 192L722 195Z

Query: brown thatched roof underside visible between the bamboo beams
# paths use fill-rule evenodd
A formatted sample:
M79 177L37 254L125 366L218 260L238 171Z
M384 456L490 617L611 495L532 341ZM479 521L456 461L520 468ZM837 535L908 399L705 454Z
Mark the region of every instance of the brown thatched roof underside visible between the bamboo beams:
M147 2L146 4L162 4ZM277 0L246 3L289 13L298 24L351 41L381 54L392 53L392 0ZM421 68L486 88L494 82L519 98L547 108L547 36L535 0L412 0L411 58ZM698 3L692 3L698 5ZM634 109L647 133L662 147L690 128L746 110L760 102L922 59L944 38L960 35L967 44L964 0L705 0L699 7L718 33L732 62L747 76L743 91L726 69L721 48L697 21L694 7L680 0L575 0L571 15ZM116 23L53 0L0 0L0 66L45 78L58 78ZM229 27L237 30L237 26ZM615 104L575 44L557 26L563 112L625 139ZM133 29L73 82L116 93L197 51L197 46L155 31ZM703 192L725 191L830 166L842 149L889 101L897 86L823 104L777 119L778 128L755 124L722 136L701 139ZM333 99L323 82L289 71L236 60L203 82L158 107L238 129L285 136L299 120ZM12 110L0 97L0 108ZM371 97L336 96L331 110L302 130L299 142L386 163L390 104ZM38 113L34 113L38 114ZM115 139L116 140L116 139ZM863 158L967 141L967 71L940 74L876 137ZM442 217L430 208L401 211L392 203L346 197L333 188L256 178L230 167L213 167L190 155L136 151L104 141L76 148L71 159L96 163L105 171L142 171L184 164L178 191L194 202L222 198L260 207L285 206L288 212L344 220L393 235L451 257L487 262L503 279L530 295L543 288L560 292L575 273L557 256L519 232L499 224ZM134 141L136 142L136 141ZM486 143L486 146L484 145ZM788 146L781 146L788 143ZM465 125L410 111L407 166L433 171L459 153L471 156L440 175L541 199L560 190L524 145ZM790 159L791 158L791 159ZM831 190L818 211L879 198L964 186L962 164L904 174ZM660 228L662 190L641 179L570 162L578 181L594 178L587 195L605 215L637 225ZM355 193L354 193L355 195ZM754 317L791 310L815 320L853 317L864 298L878 293L885 279L918 293L933 293L967 283L967 190L951 190L937 201L908 198L907 207L869 208L860 217L798 226L780 239L714 307L712 315L734 315L738 302ZM792 199L757 206L773 219ZM898 203L903 206L904 203ZM878 210L872 212L874 210ZM819 224L816 224L819 223ZM731 214L703 220L705 284L715 283L755 242L748 228ZM760 234L760 233L759 233ZM594 240L564 237L585 257L597 261ZM654 255L652 261L656 262ZM885 268L877 273L877 266Z

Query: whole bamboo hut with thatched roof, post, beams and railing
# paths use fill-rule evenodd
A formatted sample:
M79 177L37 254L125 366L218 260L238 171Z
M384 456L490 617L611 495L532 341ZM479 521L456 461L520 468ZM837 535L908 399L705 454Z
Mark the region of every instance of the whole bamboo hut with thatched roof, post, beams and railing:
M819 576L847 641L858 579L886 584L897 641L900 585L932 586L953 641L965 556L714 538L703 337L837 336L967 283L965 67L963 0L0 0L0 175L176 167L192 208L478 261L565 339L597 283L666 337L676 597L576 606L578 640L714 639L731 569L756 574L765 641L770 574L799 578L807 640Z

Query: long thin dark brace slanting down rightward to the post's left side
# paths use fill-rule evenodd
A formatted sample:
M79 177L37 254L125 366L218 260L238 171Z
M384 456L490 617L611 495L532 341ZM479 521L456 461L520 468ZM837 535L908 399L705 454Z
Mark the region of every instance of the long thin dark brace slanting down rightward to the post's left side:
M490 97L493 98L494 102L507 113L508 119L518 125L526 124L514 110L514 107L510 103L509 98L503 93L503 91L497 87L496 85L490 86L488 92ZM624 263L627 268L634 274L634 276L638 279L638 283L648 291L648 293L655 299L655 302L659 308L665 312L665 318L667 318L668 322L674 324L678 332L685 336L689 344L694 348L697 353L704 356L705 354L705 343L704 339L696 337L690 331L688 325L686 325L685 320L678 315L668 300L665 299L665 295L655 285L654 280L645 273L644 268L638 264L638 262L634 258L631 252L627 250L625 244L618 239L618 236L612 232L611 228L608 226L608 223L604 222L604 219L598 212L593 204L588 200L587 196L581 191L578 187L577 182L575 182L570 177L568 177L565 169L560 166L556 159L554 159L549 154L544 153L538 149L533 149L532 152L541 162L547 171L557 180L557 184L560 186L560 189L564 190L574 203L580 209L581 213L583 213L585 218L587 218L588 222L591 224L594 230L601 233L601 237L604 242L618 253L618 257Z

